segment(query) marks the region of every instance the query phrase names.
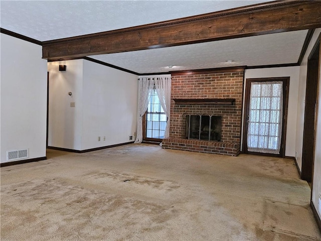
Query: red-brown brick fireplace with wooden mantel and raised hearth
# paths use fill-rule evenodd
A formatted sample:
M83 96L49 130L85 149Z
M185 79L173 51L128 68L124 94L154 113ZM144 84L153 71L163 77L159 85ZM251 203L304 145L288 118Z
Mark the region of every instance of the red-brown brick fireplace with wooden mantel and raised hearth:
M162 147L237 156L243 76L243 68L172 73L170 137L163 140ZM188 139L185 128L191 115L221 116L220 141Z

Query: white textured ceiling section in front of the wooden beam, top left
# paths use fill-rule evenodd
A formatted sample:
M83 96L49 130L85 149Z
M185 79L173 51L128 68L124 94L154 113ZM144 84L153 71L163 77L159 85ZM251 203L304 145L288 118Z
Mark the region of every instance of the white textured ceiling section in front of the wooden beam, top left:
M1 28L47 41L267 1L4 1Z

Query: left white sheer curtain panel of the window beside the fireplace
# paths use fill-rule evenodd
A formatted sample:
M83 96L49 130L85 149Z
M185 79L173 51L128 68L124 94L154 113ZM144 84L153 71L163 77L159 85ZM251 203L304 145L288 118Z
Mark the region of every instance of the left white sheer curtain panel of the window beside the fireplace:
M149 102L149 93L153 89L152 78L140 77L138 79L138 106L137 106L137 136L135 143L142 142L142 116L146 112Z

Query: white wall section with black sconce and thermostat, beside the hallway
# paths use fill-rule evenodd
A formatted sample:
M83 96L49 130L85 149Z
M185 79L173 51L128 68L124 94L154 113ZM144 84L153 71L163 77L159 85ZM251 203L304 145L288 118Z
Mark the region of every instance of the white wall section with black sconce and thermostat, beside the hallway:
M48 146L81 150L83 60L49 62ZM59 65L66 71L59 71ZM72 92L72 95L68 95ZM75 107L70 107L74 102Z

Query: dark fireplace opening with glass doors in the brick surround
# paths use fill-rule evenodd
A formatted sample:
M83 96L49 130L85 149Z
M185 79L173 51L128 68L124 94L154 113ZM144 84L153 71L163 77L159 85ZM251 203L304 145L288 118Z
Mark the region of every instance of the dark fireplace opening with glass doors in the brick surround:
M187 114L185 138L221 141L222 116L209 114Z

